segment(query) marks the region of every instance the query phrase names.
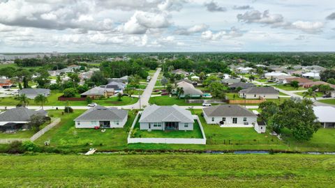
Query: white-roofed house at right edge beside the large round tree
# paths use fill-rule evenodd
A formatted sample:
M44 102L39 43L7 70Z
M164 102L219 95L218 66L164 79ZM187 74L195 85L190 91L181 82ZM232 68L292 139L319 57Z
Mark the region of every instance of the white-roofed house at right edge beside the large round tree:
M314 114L324 128L335 128L335 107L318 106L313 107Z

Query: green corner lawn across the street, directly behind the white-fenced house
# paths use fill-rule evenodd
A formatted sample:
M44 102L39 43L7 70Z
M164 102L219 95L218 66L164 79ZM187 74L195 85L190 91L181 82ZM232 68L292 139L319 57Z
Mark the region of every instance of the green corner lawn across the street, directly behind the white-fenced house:
M201 106L200 103L186 103L184 99L178 99L178 97L170 97L169 95L160 96L160 97L150 97L149 104L157 104L161 106L170 106L177 104L179 106Z

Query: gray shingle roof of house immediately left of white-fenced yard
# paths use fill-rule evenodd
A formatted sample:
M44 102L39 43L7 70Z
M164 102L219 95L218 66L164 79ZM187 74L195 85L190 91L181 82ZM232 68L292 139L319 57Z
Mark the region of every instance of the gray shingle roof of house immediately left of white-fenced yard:
M100 105L88 109L75 120L124 120L128 111L116 108L106 108Z

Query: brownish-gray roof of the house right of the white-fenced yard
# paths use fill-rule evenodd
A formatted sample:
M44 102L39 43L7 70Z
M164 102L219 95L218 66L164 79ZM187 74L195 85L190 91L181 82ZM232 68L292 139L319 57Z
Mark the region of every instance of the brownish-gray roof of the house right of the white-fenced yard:
M206 116L220 116L220 117L256 116L253 112L249 111L245 107L242 107L238 104L221 104L213 107L204 108L203 111L204 113L206 113Z

